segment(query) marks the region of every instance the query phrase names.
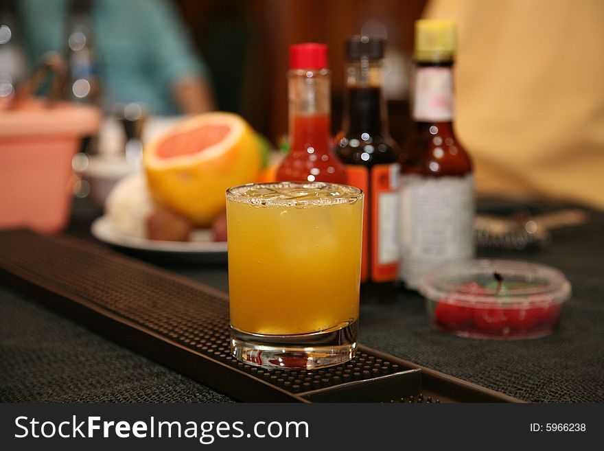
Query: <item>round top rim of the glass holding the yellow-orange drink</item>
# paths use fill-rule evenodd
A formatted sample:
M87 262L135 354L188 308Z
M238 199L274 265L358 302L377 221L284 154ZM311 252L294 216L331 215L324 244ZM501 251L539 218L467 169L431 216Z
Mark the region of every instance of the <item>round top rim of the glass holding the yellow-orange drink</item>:
M313 187L332 187L335 192L338 192L333 197L323 198L255 198L248 197L242 194L246 189L251 187L298 187L300 189L311 189ZM246 183L227 189L227 200L236 203L244 203L249 205L259 206L277 206L277 207L303 207L307 205L327 206L327 205L342 205L347 203L355 203L364 197L364 193L353 186L342 185L340 183L325 183L325 182L268 182L268 183Z

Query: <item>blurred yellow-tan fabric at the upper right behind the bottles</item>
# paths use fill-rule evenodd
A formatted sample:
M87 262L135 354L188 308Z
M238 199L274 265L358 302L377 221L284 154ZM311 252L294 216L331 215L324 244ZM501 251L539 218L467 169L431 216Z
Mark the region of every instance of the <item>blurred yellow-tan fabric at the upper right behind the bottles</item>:
M604 209L604 1L433 0L458 24L456 132L483 194Z

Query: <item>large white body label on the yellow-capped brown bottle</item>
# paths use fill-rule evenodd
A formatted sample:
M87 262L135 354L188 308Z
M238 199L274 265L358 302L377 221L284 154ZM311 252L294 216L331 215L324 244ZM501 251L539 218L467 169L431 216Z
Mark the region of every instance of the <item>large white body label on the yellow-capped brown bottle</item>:
M429 268L474 255L474 177L408 174L400 192L399 275L417 288Z

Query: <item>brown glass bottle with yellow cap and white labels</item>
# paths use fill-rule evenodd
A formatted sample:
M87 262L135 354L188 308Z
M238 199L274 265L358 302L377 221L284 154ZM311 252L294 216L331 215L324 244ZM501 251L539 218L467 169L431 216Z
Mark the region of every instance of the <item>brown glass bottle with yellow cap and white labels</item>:
M428 268L474 255L472 161L453 127L455 23L415 23L415 130L401 152L401 264L407 288Z

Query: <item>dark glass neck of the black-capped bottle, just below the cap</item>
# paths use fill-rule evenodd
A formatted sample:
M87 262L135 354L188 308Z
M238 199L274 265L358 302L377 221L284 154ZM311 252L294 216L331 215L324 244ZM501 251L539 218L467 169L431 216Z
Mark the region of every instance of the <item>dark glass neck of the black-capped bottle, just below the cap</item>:
M342 129L346 135L388 135L382 60L349 61Z

